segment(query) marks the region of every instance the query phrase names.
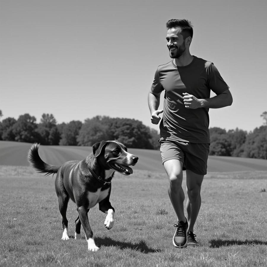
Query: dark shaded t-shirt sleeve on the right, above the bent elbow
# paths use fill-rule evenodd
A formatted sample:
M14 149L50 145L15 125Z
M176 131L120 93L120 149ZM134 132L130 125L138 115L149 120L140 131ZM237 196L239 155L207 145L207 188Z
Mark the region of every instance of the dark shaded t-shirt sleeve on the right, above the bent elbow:
M219 95L229 89L229 86L222 79L218 69L211 63L207 68L208 85L209 88L216 94Z

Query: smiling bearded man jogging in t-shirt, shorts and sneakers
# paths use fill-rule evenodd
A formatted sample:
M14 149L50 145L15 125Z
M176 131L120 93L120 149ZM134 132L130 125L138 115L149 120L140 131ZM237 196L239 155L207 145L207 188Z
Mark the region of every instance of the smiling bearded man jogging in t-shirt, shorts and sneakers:
M212 62L189 52L193 28L188 20L166 23L167 47L172 60L158 66L148 94L151 122L160 122L159 143L163 166L169 177L168 193L178 222L173 236L175 247L198 245L194 225L201 205L200 189L207 171L209 154L209 108L230 106L228 85ZM165 90L163 110L158 110ZM210 90L216 96L210 98ZM186 170L187 218L182 190Z

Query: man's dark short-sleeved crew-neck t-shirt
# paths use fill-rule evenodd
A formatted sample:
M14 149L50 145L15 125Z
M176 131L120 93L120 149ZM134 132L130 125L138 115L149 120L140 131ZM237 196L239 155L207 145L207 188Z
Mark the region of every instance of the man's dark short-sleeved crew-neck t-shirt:
M218 95L228 88L214 64L196 56L187 66L176 66L174 60L158 66L151 93L165 90L160 137L210 143L209 109L185 108L182 93L192 94L196 98L210 98L210 90Z

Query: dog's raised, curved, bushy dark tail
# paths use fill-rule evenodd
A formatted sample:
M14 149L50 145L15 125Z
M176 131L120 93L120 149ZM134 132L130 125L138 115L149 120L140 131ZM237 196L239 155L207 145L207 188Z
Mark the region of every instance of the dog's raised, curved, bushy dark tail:
M28 162L38 172L46 173L46 175L57 173L60 166L54 166L45 163L38 153L39 144L34 143L28 152Z

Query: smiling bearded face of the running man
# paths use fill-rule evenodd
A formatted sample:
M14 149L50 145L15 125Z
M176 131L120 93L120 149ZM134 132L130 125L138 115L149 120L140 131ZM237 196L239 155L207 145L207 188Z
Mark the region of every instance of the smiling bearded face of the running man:
M179 58L185 52L185 40L179 27L170 28L166 40L171 58Z

